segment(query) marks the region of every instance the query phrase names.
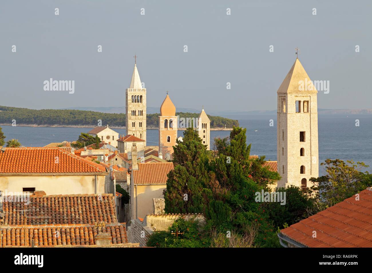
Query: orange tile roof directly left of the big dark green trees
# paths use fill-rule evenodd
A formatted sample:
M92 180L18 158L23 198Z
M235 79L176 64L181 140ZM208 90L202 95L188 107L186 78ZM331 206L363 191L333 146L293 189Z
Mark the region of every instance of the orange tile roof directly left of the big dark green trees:
M173 170L172 162L138 163L138 170L132 170L134 184L166 184L167 175Z

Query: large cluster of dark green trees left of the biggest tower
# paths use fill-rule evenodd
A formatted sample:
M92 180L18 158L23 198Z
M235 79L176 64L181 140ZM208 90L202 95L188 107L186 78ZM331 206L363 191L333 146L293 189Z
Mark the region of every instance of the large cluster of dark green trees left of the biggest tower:
M230 138L216 139L215 146L217 152L209 157L198 134L188 129L183 142L173 147L174 170L164 191L166 213L203 212L203 234L215 234L214 242L234 231L240 238L253 238L254 246L279 246L269 214L255 201L255 193L266 190L279 174L262 166L264 157L249 157L246 129L234 127Z

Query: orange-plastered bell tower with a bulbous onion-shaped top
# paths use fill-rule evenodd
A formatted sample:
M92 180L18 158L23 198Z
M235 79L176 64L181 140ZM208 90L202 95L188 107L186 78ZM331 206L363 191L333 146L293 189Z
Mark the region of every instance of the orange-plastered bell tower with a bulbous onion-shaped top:
M159 116L159 152L163 154L163 159L172 158L173 146L176 146L177 140L177 124L176 107L167 94L161 104Z

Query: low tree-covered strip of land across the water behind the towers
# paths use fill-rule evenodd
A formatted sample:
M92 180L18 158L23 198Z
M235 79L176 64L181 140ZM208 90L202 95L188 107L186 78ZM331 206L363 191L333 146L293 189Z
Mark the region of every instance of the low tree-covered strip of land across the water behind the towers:
M176 113L180 117L197 118L196 113ZM229 118L208 116L211 120L211 128L238 126L237 120ZM28 108L17 108L0 106L0 123L11 123L15 119L17 124L36 124L36 125L90 125L97 126L98 120L102 124L110 126L124 126L125 114L100 113L83 110L53 110L42 109L33 110ZM146 123L148 127L158 127L159 114L147 114Z

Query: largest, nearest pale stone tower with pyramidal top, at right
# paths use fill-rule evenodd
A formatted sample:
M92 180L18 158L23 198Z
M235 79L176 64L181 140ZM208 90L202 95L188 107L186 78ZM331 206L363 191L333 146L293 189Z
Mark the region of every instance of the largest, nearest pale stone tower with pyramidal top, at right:
M278 89L278 187L302 189L319 176L317 90L299 59Z

